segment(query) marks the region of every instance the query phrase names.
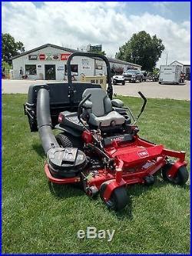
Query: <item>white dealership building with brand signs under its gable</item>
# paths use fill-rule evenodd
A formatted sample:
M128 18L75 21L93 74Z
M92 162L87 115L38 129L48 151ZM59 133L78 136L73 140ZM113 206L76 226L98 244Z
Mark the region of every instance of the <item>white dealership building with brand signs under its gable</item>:
M66 63L68 56L78 50L64 48L57 45L42 45L28 52L23 52L12 59L13 78L19 79L27 75L31 80L64 80L67 75ZM111 69L126 71L128 68L141 70L140 65L123 62L115 58L108 58ZM95 58L74 57L71 60L72 75L79 80L84 75L104 75L104 62Z

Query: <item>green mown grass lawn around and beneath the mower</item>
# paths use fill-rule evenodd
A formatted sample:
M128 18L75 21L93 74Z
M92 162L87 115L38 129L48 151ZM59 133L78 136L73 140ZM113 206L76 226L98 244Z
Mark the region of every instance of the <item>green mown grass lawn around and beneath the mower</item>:
M160 176L151 187L131 186L131 202L121 213L72 186L51 194L38 133L30 133L23 113L27 95L2 98L4 253L189 253L189 181L180 188ZM140 98L121 98L139 111ZM149 99L138 125L141 137L187 151L190 161L190 102ZM114 239L78 239L88 226L115 229Z

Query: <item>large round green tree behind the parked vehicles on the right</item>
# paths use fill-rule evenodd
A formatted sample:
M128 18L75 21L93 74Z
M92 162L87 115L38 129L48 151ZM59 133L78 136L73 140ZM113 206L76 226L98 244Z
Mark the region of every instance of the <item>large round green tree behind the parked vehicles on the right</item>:
M115 57L125 62L141 65L143 70L153 71L161 53L164 51L162 40L156 35L141 31L132 35L131 39L119 48Z

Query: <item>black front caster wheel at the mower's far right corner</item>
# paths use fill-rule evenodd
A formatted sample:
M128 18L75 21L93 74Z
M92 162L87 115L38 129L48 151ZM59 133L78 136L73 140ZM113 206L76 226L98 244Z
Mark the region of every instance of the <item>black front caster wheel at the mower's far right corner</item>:
M189 178L189 173L187 171L187 168L185 166L181 166L180 168L178 168L178 171L175 177L171 178L171 177L168 177L167 174L170 168L172 167L172 165L174 165L174 163L169 162L167 163L167 165L164 166L164 168L162 168L162 177L164 181L168 181L175 185L184 185Z

